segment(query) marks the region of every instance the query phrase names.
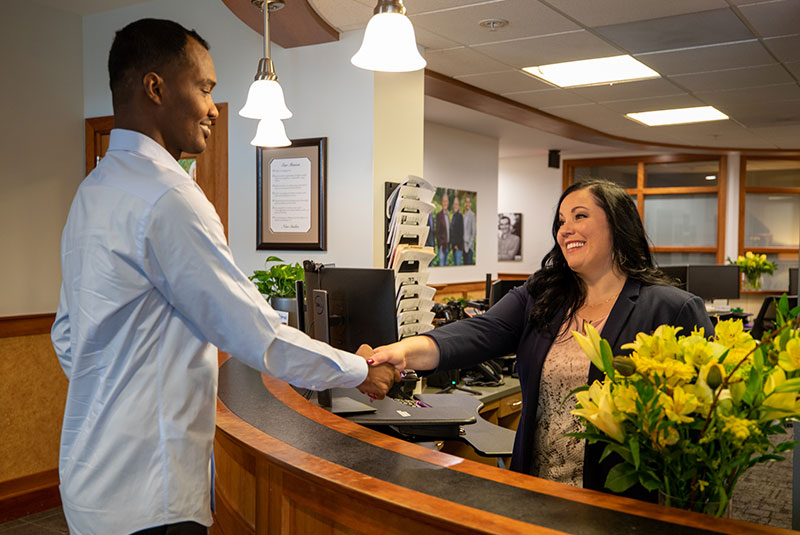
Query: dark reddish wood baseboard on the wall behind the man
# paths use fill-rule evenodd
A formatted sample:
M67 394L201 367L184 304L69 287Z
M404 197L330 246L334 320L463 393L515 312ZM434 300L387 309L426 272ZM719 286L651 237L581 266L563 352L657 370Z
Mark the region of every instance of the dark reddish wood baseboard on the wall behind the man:
M0 522L8 522L60 505L57 469L0 483Z

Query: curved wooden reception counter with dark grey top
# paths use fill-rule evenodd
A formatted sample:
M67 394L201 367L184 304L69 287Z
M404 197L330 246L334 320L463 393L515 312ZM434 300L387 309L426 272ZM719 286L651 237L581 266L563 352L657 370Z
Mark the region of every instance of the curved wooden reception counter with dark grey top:
M776 534L529 477L367 429L220 367L212 534Z

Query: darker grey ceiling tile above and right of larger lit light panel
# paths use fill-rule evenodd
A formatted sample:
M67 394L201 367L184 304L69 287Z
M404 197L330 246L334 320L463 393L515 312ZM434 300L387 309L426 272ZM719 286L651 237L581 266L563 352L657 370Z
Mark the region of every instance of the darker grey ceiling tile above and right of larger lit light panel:
M594 31L631 54L753 38L750 30L730 9L614 24Z

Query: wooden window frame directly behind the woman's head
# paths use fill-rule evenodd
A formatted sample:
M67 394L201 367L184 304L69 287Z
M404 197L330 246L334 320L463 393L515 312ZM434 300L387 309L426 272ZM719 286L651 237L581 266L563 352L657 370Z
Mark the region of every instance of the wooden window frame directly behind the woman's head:
M668 188L649 188L645 185L645 166L654 163L683 163L717 161L719 170L714 186L678 186ZM562 190L566 190L574 182L576 167L597 167L605 165L636 165L636 187L626 188L629 195L636 196L636 208L644 225L644 200L648 195L717 195L717 245L716 246L651 246L652 253L713 253L717 264L725 263L725 207L727 203L728 159L719 154L656 154L649 156L621 156L612 158L583 158L564 160L562 173ZM800 188L798 188L800 189Z

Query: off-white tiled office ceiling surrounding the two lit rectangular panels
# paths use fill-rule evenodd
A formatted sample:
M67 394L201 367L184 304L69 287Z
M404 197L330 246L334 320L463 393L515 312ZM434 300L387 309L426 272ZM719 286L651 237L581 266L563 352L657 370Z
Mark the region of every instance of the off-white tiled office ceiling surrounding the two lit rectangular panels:
M366 26L375 0L309 0L340 31ZM405 0L428 69L627 138L707 147L800 148L800 0ZM509 21L490 31L489 18ZM559 89L521 67L631 54L661 78ZM426 100L426 118L481 120ZM712 105L731 117L646 127L628 112ZM463 109L462 109L463 110ZM485 116L484 116L485 117ZM502 121L505 123L505 121ZM463 123L463 124L461 124ZM522 136L486 120L484 131ZM558 138L529 134L541 148ZM524 143L501 137L517 154ZM551 143L551 145L544 145ZM577 150L589 146L579 147ZM563 149L562 149L563 150Z

